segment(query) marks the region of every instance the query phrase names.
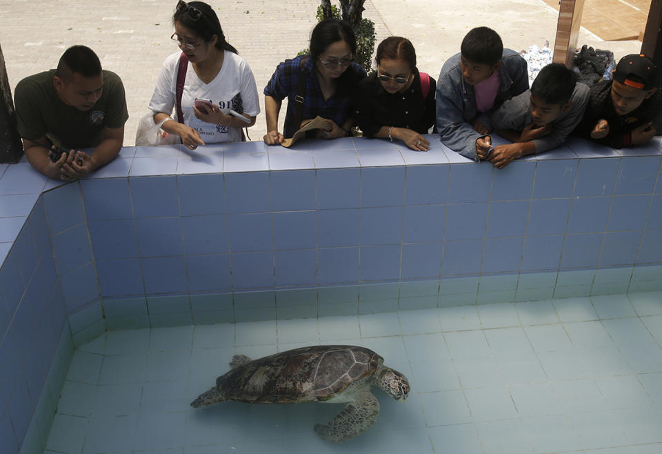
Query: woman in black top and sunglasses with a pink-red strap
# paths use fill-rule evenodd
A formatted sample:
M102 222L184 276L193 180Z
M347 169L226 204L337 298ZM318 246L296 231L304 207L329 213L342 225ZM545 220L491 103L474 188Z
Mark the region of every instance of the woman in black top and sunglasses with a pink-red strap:
M437 83L416 68L411 41L387 38L377 47L377 73L359 83L357 124L365 137L400 139L417 151L430 150Z

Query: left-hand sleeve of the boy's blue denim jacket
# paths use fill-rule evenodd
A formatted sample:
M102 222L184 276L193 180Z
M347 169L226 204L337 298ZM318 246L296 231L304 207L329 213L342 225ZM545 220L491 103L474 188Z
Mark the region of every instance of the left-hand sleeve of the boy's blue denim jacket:
M467 123L477 112L474 102L468 103L465 99L467 93L463 92L463 81L461 69L459 69L459 55L457 65L451 57L444 63L437 82L437 130L441 141L451 150L478 161L476 154L476 139L481 137Z

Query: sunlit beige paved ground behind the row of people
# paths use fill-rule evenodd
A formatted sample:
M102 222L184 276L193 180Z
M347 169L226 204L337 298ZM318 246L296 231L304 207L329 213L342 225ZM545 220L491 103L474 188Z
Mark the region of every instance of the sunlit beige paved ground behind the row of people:
M132 145L161 63L177 51L169 39L176 1L108 3L0 0L4 19L0 46L12 90L23 77L57 66L69 46L85 44L94 49L103 68L117 72L124 81L130 115L124 143ZM210 4L219 14L228 41L250 64L261 93L280 61L308 47L319 1L237 0L224 1L221 7L219 0L211 0ZM462 37L474 26L494 28L505 46L516 50L542 46L546 40L552 45L556 30L556 12L541 0L366 0L363 17L374 21L377 43L390 34L411 39L419 68L435 78L443 61L459 50ZM614 50L617 56L639 52L641 47L638 41L605 43L586 32L579 42ZM249 130L250 137L261 140L265 128L261 113Z

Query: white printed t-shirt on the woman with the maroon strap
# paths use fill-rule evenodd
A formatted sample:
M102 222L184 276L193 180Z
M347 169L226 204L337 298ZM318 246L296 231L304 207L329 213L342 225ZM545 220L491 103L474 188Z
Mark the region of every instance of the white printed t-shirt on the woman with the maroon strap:
M181 52L175 52L163 61L163 68L157 79L157 86L150 100L152 112L172 115L177 91L177 71ZM221 112L227 114L230 109L254 117L260 112L257 86L250 66L239 55L225 50L223 66L210 83L204 83L195 74L191 63L186 69L184 90L181 95L183 123L197 130L205 143L241 141L241 129L205 123L193 113L196 98L210 99L217 104ZM174 112L177 118L177 112Z

